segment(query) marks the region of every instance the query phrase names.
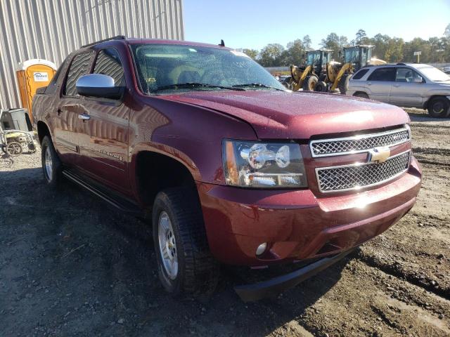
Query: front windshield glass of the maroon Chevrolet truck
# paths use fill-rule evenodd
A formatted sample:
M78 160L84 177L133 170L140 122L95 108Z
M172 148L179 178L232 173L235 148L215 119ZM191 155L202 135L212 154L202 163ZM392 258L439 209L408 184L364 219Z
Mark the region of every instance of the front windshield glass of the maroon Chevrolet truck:
M147 94L234 88L285 90L269 72L239 51L173 44L139 44L131 49L142 91Z

